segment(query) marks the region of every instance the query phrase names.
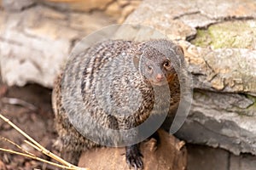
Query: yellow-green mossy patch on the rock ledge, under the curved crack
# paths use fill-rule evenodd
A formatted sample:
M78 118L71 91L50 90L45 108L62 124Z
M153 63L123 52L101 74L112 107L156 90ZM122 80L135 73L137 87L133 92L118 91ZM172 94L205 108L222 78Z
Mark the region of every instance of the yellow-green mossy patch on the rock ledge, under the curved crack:
M254 48L256 41L256 21L236 20L209 26L207 30L197 30L191 42L202 48Z

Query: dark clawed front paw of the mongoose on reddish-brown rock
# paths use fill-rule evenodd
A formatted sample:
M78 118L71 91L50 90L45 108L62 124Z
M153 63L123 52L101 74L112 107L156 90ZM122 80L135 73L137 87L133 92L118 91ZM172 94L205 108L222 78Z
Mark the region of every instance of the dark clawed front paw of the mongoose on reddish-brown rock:
M138 144L134 144L126 147L126 162L129 167L134 167L135 170L143 169L142 153L138 148Z

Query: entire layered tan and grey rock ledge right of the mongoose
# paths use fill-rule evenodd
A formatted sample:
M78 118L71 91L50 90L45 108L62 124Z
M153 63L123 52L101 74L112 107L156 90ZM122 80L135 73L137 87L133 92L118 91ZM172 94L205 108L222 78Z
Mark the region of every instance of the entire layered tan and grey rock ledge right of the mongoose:
M195 89L189 116L176 133L178 138L236 155L256 155L255 11L254 0L145 0L125 20L151 26L184 49ZM203 45L192 44L191 40L201 36L198 28L212 29L207 31L217 36L210 43L205 36ZM132 34L150 37L155 32L147 35L138 28Z

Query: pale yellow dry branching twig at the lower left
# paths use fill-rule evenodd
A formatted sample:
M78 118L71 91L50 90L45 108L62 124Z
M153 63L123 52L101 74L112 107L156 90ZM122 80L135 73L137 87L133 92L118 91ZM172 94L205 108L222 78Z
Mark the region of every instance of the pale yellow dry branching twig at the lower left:
M62 165L64 165L63 167L67 168L67 169L75 169L75 170L90 170L89 168L86 168L86 167L77 167L77 166L74 166L73 164L63 160L61 157L59 156L56 156L55 154L53 154L52 152L50 152L49 150L46 150L41 144L38 144L37 141L35 141L34 139L32 139L28 134L26 134L25 132L23 132L19 127L17 127L13 122L10 122L8 118L6 118L5 116L3 116L2 114L0 114L0 118L3 119L4 122L7 122L9 123L9 125L11 127L14 127L15 130L17 130L20 134L22 134L24 137L26 137L26 139L28 139L29 141L25 141L26 144L30 144L32 147L34 147L35 149L37 150L40 150L42 153L44 153L44 155L46 156L49 156L51 157L52 159L54 159L55 161L59 161L61 162ZM6 150L6 149L3 149L3 148L0 148L0 150L3 150L3 151L8 151L10 153L14 153L14 154L18 154L18 155L22 155L22 156L27 156L27 157L30 157L32 159L36 159L38 161L42 161L43 159L41 158L38 158L36 156L32 156L30 154L24 154L24 153L20 153L20 152L16 152L14 150ZM44 162L46 162L46 160L44 160ZM48 162L48 161L47 161ZM49 161L51 162L51 161ZM54 162L51 162L49 164L52 164ZM54 163L55 164L55 163ZM59 164L57 164L59 165ZM61 165L59 165L61 166Z

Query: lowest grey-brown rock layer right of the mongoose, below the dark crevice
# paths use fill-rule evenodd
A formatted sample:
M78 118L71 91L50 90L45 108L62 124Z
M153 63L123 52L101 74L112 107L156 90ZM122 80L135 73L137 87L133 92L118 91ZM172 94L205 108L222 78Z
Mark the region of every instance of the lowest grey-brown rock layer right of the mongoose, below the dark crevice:
M242 101L243 104L239 104ZM207 144L256 154L254 100L239 94L196 91L189 117L177 137L195 144ZM243 107L247 105L247 109Z

